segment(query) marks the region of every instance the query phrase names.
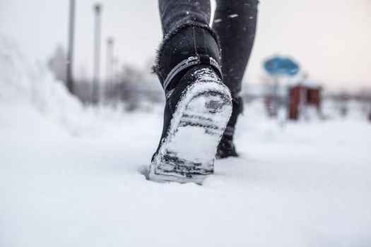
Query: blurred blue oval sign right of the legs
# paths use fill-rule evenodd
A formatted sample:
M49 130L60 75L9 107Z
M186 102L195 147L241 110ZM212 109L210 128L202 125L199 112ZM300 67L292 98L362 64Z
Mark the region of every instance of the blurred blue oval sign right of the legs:
M299 66L295 61L278 56L266 60L264 68L271 76L295 76L299 72Z

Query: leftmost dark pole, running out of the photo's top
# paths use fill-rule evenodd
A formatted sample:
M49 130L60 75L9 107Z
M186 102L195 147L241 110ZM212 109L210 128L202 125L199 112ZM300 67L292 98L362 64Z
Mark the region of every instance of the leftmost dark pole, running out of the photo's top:
M69 4L69 40L68 40L68 51L66 61L66 80L67 88L71 94L73 94L73 40L75 30L75 0L71 0Z

